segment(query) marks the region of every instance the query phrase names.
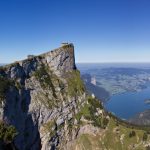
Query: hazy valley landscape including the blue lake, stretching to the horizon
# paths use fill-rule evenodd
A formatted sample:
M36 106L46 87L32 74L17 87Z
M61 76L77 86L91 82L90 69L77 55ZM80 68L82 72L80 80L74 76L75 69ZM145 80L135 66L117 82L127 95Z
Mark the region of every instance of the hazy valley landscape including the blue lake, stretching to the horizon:
M78 64L90 93L117 117L150 125L150 64ZM139 117L140 114L142 118ZM141 121L142 120L142 121Z

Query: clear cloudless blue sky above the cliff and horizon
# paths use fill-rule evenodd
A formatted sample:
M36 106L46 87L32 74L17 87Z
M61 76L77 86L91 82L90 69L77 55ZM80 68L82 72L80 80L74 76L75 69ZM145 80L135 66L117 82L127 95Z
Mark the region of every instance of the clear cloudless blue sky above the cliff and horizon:
M0 63L61 42L76 62L150 62L150 0L0 0Z

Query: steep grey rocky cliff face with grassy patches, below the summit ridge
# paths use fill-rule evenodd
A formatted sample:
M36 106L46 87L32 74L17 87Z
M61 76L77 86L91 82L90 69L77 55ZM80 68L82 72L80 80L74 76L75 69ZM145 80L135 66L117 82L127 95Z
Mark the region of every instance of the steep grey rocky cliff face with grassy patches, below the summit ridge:
M85 93L73 44L5 66L0 78L0 118L16 128L18 150L55 149L75 137L68 125Z

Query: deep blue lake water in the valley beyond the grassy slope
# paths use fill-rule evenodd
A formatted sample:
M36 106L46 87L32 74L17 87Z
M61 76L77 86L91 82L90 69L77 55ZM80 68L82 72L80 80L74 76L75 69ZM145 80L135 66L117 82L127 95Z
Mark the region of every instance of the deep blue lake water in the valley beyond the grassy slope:
M144 100L150 99L150 87L140 92L126 92L114 95L105 103L106 110L122 119L129 119L136 114L150 109Z

